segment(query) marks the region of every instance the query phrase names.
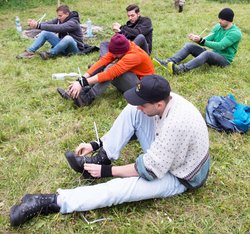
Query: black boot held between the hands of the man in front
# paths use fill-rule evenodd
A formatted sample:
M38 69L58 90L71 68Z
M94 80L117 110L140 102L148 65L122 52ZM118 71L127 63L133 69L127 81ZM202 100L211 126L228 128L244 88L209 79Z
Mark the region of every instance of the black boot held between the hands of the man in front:
M70 167L76 171L83 173L85 178L93 178L87 171L84 171L84 163L94 163L99 165L110 165L111 161L109 160L105 150L100 148L96 155L88 157L88 156L78 156L73 152L65 153L66 159L70 165ZM90 176L90 177L88 177Z

